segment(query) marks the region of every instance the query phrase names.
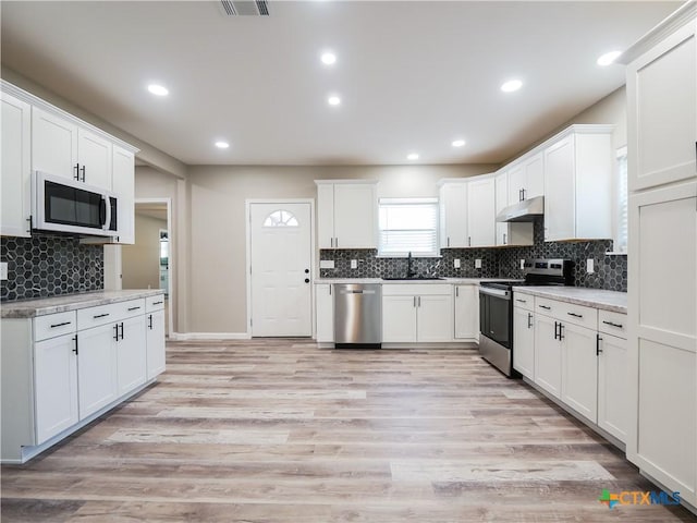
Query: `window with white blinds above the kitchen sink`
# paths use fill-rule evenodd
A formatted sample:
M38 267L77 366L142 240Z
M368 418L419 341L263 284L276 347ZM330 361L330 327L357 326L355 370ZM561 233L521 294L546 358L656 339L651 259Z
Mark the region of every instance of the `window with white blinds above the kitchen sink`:
M438 198L380 198L381 256L438 256Z

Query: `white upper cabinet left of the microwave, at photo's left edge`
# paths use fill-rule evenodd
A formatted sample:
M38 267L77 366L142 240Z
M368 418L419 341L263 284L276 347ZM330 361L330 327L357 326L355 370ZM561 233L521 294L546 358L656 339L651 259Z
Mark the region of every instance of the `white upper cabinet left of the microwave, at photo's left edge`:
M29 236L32 106L7 93L0 93L0 101L2 102L0 234Z

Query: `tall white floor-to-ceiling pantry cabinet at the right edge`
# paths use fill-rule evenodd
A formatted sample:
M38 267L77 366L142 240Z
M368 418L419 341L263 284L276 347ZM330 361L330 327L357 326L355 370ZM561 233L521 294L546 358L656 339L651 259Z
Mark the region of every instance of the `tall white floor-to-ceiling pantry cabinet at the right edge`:
M626 451L697 507L697 3L623 54L629 186Z

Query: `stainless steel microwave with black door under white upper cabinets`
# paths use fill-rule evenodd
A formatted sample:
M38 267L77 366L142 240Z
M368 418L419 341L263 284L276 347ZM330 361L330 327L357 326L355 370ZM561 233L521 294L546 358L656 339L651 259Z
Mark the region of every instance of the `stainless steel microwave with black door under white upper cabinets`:
M36 171L32 179L33 228L76 234L118 235L117 195L78 180Z

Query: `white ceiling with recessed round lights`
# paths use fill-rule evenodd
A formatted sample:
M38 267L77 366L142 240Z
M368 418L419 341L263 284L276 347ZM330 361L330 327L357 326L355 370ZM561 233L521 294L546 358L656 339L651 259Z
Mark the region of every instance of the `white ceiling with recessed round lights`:
M596 59L680 3L3 0L2 63L188 165L496 163L620 87Z

